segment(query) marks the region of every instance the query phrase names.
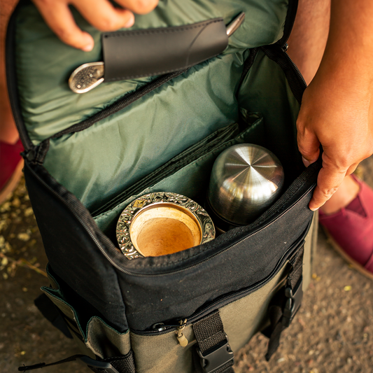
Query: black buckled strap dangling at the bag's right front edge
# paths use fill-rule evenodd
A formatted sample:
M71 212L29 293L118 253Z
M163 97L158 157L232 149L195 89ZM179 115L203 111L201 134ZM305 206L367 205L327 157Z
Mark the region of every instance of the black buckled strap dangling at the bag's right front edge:
M264 334L269 337L268 349L265 355L267 361L277 351L283 330L288 328L302 302L302 266L304 244L293 254L289 262L291 265L285 286L277 293L274 302L269 306L269 319L271 325Z

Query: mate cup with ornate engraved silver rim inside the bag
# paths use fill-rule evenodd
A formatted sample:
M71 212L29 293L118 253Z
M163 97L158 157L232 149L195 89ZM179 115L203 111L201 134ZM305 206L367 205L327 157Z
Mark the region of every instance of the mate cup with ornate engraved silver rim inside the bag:
M122 253L134 259L204 244L215 238L215 227L209 214L192 199L155 192L135 199L122 211L116 234Z

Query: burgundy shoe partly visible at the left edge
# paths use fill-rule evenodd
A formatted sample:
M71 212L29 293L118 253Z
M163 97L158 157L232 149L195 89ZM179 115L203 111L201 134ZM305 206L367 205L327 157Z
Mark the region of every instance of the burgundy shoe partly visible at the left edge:
M20 139L15 144L0 141L0 204L13 192L22 176L23 146Z

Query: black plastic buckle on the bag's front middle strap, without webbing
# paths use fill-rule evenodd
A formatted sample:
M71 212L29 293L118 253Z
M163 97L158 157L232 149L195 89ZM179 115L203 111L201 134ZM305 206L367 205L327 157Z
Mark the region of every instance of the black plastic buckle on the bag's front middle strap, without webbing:
M199 357L201 358L202 369L205 373L216 372L220 367L233 362L234 355L233 351L230 349L228 336L225 335L226 340L220 342L216 346L211 347L211 349L202 353L197 350Z

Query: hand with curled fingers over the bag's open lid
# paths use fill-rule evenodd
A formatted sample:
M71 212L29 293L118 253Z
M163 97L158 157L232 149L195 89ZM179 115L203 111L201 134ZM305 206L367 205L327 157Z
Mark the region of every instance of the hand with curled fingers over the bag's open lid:
M92 36L81 30L73 19L69 5L100 31L115 31L134 24L134 13L146 14L158 0L116 0L115 7L108 0L32 0L50 29L64 43L88 52L92 50Z

